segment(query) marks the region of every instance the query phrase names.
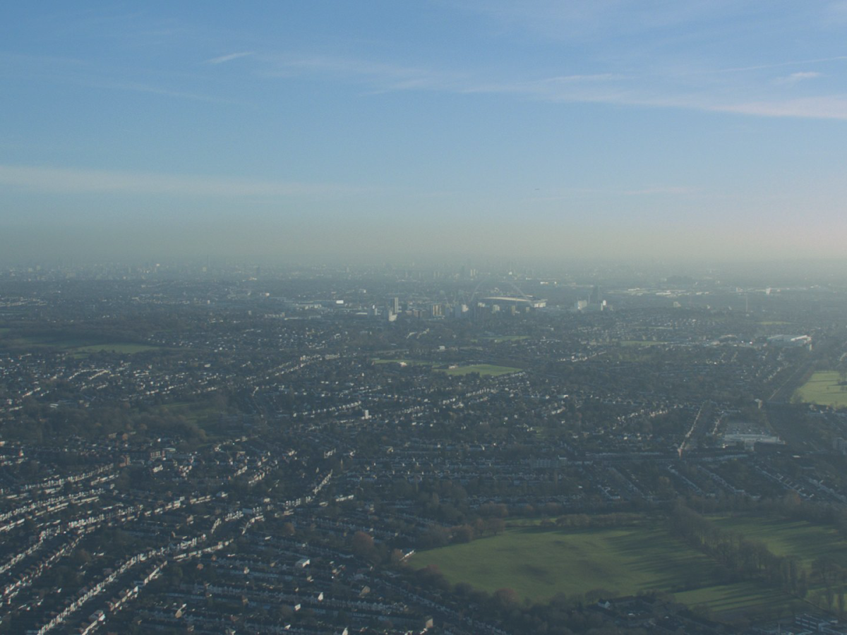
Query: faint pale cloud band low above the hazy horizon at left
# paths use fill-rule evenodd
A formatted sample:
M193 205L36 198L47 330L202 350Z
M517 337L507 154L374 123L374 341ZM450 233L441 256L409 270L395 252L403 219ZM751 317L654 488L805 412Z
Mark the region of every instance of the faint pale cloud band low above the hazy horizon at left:
M147 194L191 197L333 197L374 188L333 183L232 179L82 168L0 165L0 184L66 194Z

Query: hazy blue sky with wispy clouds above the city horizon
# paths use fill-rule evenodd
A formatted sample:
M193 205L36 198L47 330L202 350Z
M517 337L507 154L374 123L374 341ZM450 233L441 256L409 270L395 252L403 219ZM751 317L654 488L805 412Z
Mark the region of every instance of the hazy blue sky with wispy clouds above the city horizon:
M3 3L0 250L842 257L845 36L844 0Z

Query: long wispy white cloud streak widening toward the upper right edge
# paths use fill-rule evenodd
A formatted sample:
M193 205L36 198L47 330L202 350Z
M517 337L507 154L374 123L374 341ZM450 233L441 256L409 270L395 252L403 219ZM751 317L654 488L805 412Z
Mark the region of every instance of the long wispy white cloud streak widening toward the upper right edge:
M822 58L847 60L847 56ZM257 75L341 81L368 86L368 93L390 91L441 91L454 94L511 95L548 102L607 103L644 108L684 108L704 112L738 113L762 117L847 119L847 95L830 94L794 98L780 87L817 79L817 71L793 73L774 81L756 71L806 63L787 61L690 73L679 69L640 69L636 72L573 73L529 79L488 71L429 68L424 65L386 63L362 58L324 55L258 56ZM732 74L731 80L714 77ZM744 75L744 74L747 75ZM736 75L740 75L736 76ZM701 79L701 77L706 79Z

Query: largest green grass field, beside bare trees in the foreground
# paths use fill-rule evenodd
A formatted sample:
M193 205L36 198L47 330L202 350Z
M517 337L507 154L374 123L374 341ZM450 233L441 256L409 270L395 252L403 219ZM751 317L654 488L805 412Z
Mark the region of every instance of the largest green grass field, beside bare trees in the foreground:
M493 592L513 588L535 602L556 594L673 591L717 583L705 555L671 538L662 527L560 530L516 527L499 536L421 551L412 566L439 567L451 583Z

